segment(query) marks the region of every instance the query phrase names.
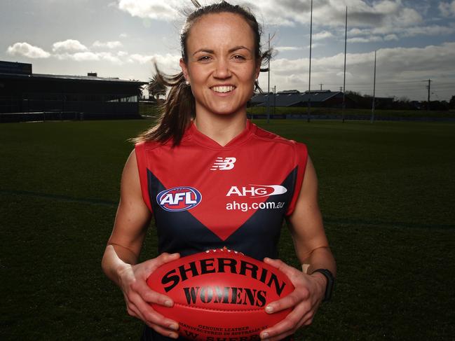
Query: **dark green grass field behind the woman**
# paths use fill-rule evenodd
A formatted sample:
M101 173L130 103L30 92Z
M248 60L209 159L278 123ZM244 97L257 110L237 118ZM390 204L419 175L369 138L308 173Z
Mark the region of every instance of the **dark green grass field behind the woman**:
M100 260L149 123L0 125L0 340L139 340ZM308 144L339 269L297 340L455 340L455 124L255 123ZM298 266L285 229L280 255Z

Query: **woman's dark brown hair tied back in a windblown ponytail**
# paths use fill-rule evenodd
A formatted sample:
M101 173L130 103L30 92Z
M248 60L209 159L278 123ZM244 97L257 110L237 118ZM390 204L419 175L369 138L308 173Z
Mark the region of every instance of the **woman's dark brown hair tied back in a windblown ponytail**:
M245 19L254 34L254 56L256 62L261 62L262 66L265 66L269 62L271 50L262 53L262 28L248 8L238 5L234 6L226 1L208 6L201 6L196 0L191 1L197 9L187 15L182 31L180 32L180 46L182 48L182 58L184 62L188 62L186 41L188 40L191 27L193 27L203 15L214 13L234 13ZM182 140L183 134L191 123L191 120L196 118L196 101L191 92L191 87L185 83L186 80L183 72L174 76L166 76L158 70L156 64L155 68L156 80L161 84L170 87L170 91L163 106L161 106L161 114L158 117L156 125L140 134L133 139L133 141L159 141L165 143L172 139L173 146L176 146ZM261 71L267 70L268 69L261 69ZM257 82L254 83L254 86L255 90L261 91Z

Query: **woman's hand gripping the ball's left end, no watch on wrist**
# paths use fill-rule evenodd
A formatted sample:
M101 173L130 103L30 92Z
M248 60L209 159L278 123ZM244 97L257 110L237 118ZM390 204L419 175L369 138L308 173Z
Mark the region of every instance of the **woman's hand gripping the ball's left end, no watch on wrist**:
M157 333L172 338L178 337L176 332L179 328L178 323L156 312L149 303L172 307L174 302L168 296L152 291L147 286L147 278L157 267L179 257L178 253L162 253L157 258L144 263L128 265L118 275L128 314L141 319Z

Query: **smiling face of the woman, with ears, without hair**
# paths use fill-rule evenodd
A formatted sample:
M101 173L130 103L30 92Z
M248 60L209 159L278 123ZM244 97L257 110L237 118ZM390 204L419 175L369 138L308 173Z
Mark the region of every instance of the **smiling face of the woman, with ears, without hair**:
M233 13L203 15L186 40L188 62L180 60L196 99L196 115L245 114L260 63L254 55L254 34Z

